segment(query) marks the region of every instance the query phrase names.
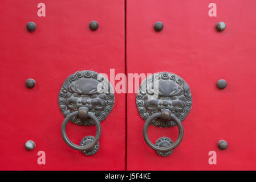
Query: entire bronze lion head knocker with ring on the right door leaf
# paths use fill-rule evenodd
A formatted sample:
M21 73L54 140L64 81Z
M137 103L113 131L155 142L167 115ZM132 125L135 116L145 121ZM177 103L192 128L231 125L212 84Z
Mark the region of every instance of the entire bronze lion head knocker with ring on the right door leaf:
M192 96L188 84L179 76L161 72L147 77L140 85L136 96L136 105L141 117L146 121L143 127L145 142L157 154L172 154L183 138L181 121L188 115L192 106ZM178 126L176 142L161 137L153 144L148 138L149 124L156 127Z

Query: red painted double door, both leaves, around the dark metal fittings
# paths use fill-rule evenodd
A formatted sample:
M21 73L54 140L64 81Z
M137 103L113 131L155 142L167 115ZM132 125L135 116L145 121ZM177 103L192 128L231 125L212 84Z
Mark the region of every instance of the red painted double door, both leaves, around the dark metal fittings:
M209 16L210 3L216 5L216 16ZM38 4L0 3L1 170L256 169L255 1L45 0L45 16L39 16L42 4ZM99 23L97 30L90 30L92 20ZM156 31L154 24L159 21L164 28ZM28 22L36 23L35 31L27 30ZM216 30L218 22L226 23L224 31ZM111 69L115 69L112 77ZM92 156L69 147L61 132L65 117L59 106L60 89L78 71L105 73L115 90L121 80L117 74L128 77L128 93L115 93L111 112L100 122L99 150ZM169 156L160 156L145 143L147 118L138 111L144 105L137 102L139 85L133 80L141 76L141 83L143 75L162 72L182 79L182 84L162 81L176 86L172 94L183 89L192 96L191 100L180 95L168 98L169 106L182 111L182 99L192 102L192 108L184 111L182 142ZM34 88L25 85L28 78L36 81ZM220 79L227 81L225 89L216 86ZM79 84L74 89L72 98L81 91ZM165 97L161 103L167 107L165 93L161 94L157 100ZM177 98L181 106L173 104ZM87 96L74 99L86 107ZM163 117L164 111L152 113ZM66 133L77 145L82 138L97 135L95 126L72 122ZM148 129L153 144L160 137L175 142L178 133L177 126L149 125ZM36 145L31 151L24 146L28 140ZM228 143L226 150L218 148L220 140Z

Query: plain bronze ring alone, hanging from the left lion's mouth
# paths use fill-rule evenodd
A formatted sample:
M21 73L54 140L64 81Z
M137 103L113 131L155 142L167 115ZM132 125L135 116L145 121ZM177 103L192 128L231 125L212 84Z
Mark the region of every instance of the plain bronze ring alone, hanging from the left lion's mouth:
M100 134L101 134L100 122L98 121L98 119L96 118L96 116L93 113L88 112L88 117L93 119L94 122L95 122L95 125L96 125L96 136L95 136L95 139L91 143L86 144L85 146L78 146L77 144L72 143L70 141L70 139L68 139L67 133L66 133L66 127L67 127L68 121L72 117L75 117L76 115L78 115L78 111L74 111L73 113L68 114L67 117L64 119L64 121L62 123L62 138L63 138L64 142L67 143L68 146L70 146L71 148L73 148L75 150L80 150L80 151L90 150L91 148L93 148L97 144L97 142L99 142Z

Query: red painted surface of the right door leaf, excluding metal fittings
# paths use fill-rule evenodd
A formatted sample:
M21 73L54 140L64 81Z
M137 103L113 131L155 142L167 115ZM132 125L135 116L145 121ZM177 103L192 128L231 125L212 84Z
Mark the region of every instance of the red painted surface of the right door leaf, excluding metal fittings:
M217 17L208 15L211 2ZM144 142L136 94L128 94L128 170L256 169L255 7L253 0L127 1L127 72L175 73L193 97L184 139L164 158ZM161 32L153 29L157 21ZM220 21L223 32L215 29ZM227 80L224 90L216 86L220 78ZM149 126L149 139L176 140L177 131ZM217 147L221 139L229 143L225 151ZM209 151L217 152L216 165L209 165Z

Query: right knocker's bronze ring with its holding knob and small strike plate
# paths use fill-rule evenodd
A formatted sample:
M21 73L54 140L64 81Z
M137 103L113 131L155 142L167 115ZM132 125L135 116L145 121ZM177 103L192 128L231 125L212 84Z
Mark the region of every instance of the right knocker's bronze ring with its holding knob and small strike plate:
M166 142L170 142L172 144L169 144L169 145L163 144L162 146L160 144L160 146L156 146L149 140L148 126L153 121L153 119L156 119L156 118L162 118L162 119L165 119L166 121L169 121L169 119L173 119L173 121L176 123L176 125L178 126L178 139L174 143L172 143L171 140L168 141L168 139L165 139ZM178 119L174 114L171 114L169 109L161 109L160 113L152 114L147 119L147 121L144 123L143 138L144 138L145 142L147 143L147 145L149 147L151 147L153 150L157 151L158 153L159 152L164 153L162 156L167 156L166 153L168 153L168 152L171 154L170 151L174 150L174 148L176 148L181 143L183 135L184 135L184 130L183 130L180 119ZM166 138L166 137L163 137L163 138ZM166 142L164 142L164 143L166 143Z

